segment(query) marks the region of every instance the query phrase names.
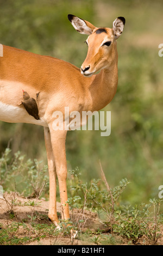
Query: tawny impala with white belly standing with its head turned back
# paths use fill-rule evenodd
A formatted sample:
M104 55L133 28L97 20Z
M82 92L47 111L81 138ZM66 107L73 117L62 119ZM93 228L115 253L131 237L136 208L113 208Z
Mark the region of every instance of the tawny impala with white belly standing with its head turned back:
M49 171L48 217L59 226L56 202L58 178L62 218L70 218L67 202L67 164L65 141L67 130L53 129L53 113L98 111L116 93L118 54L116 39L125 19L118 17L112 28L97 28L77 16L68 15L72 26L89 35L88 52L81 68L57 58L42 56L14 47L0 47L0 120L8 123L30 123L44 128ZM101 71L100 71L101 70ZM97 71L98 74L96 74ZM39 120L29 115L20 102L22 90L36 98ZM65 120L64 120L65 121Z

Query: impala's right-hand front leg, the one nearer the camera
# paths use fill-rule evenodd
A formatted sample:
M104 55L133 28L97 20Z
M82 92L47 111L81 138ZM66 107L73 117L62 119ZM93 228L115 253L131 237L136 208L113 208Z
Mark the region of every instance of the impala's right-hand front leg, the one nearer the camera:
M57 171L57 178L59 182L60 200L61 200L61 214L62 218L67 220L70 218L67 202L67 162L66 162L66 133L67 131L54 131L49 125L51 131L51 142L55 160L55 167Z

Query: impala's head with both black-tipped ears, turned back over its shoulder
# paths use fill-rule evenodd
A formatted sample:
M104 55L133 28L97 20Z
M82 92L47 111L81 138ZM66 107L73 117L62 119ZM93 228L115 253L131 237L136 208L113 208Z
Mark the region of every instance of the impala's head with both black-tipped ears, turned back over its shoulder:
M90 22L71 14L68 14L68 20L80 34L89 35L86 39L87 56L80 69L84 76L90 77L101 69L109 68L115 60L117 61L116 39L123 32L124 17L118 17L113 22L112 28L97 28Z

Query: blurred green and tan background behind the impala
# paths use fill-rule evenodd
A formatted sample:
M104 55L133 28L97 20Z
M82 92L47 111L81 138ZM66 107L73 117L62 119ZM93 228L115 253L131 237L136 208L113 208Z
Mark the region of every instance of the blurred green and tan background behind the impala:
M68 169L76 166L83 180L100 178L99 159L110 186L131 181L123 200L147 202L163 185L163 43L162 1L140 0L0 0L0 42L30 52L64 59L80 67L86 35L67 19L74 14L97 27L112 27L118 16L126 25L117 40L118 89L112 102L111 135L100 131L71 131L66 141ZM72 78L73 81L73 78ZM43 160L43 128L0 123L0 153L9 147L31 159Z

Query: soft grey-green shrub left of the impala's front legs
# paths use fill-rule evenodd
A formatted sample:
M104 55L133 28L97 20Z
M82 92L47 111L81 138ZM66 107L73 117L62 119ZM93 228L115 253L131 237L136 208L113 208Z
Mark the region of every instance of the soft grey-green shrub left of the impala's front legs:
M0 181L4 190L14 190L16 185L17 191L24 196L37 197L44 184L44 192L48 193L48 167L41 167L41 161L36 159L26 160L20 151L14 157L10 153L9 148L5 149L0 159Z

